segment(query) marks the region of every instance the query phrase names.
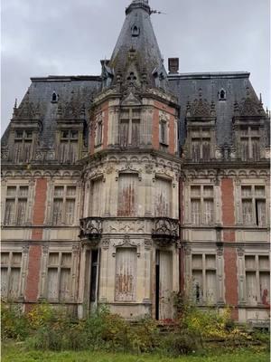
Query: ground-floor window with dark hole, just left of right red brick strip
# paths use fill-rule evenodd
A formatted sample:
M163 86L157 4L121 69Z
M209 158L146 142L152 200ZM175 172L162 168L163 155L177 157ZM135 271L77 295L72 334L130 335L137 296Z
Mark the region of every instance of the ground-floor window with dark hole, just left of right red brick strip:
M215 254L192 255L192 296L196 303L217 302L217 262Z

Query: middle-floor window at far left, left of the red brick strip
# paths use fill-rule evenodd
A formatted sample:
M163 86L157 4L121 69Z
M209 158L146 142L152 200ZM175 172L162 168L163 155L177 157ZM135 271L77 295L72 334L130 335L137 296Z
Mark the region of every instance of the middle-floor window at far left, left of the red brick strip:
M5 197L5 225L26 222L28 186L7 186Z

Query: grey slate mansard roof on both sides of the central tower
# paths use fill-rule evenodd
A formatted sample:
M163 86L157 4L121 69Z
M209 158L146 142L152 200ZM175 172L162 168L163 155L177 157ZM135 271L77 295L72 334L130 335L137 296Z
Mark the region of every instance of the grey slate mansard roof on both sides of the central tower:
M168 76L170 87L178 97L180 110L180 143L185 139L185 118L187 102L192 103L199 99L201 91L202 99L209 104L214 102L216 111L216 137L217 144L222 146L233 143L232 119L234 117L235 103L239 107L246 99L252 101L257 107L259 100L249 81L248 72L220 72L220 73L185 73L170 74ZM20 108L29 102L32 109L39 109L39 119L42 121L42 133L40 137L41 147L53 148L55 142L55 129L57 127L57 112L70 104L77 110L85 109L85 119L89 119L91 99L100 90L101 79L98 76L71 76L33 78L32 84L25 94ZM226 100L220 100L220 90L225 90ZM57 103L51 102L53 91L59 96ZM251 110L253 111L253 110ZM266 119L266 134L268 135L268 120ZM2 138L5 146L9 128ZM268 144L268 140L266 140Z

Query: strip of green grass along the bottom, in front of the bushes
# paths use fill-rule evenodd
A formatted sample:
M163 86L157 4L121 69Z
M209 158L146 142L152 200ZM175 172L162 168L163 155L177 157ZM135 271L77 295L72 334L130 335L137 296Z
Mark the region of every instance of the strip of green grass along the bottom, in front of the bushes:
M37 351L29 350L24 344L5 342L2 345L3 362L269 362L267 352L243 349L221 354L209 353L203 356L182 356L178 358L161 355L130 355L121 353L89 351Z

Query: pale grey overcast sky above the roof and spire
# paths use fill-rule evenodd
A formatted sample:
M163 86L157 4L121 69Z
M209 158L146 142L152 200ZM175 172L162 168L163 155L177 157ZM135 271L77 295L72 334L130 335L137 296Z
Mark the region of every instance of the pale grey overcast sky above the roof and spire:
M2 133L30 77L98 75L129 0L2 0ZM167 67L180 72L250 71L270 109L269 0L151 0Z

